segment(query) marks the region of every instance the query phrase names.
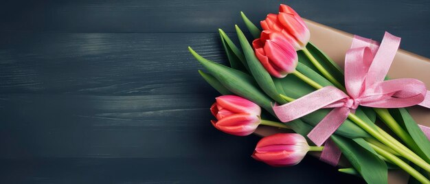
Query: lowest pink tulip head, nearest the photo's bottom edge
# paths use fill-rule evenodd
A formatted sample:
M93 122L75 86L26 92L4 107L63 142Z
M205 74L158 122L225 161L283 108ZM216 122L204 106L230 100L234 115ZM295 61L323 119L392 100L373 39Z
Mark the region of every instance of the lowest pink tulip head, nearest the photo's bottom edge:
M309 150L306 139L295 133L278 133L262 138L256 146L252 157L269 165L296 165Z

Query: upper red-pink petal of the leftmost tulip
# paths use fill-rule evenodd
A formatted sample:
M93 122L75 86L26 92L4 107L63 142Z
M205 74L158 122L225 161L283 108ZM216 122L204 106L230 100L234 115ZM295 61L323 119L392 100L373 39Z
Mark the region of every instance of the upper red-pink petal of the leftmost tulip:
M260 115L261 108L257 104L236 95L223 95L216 98L218 109L220 106L231 111L232 113L249 113L251 115Z

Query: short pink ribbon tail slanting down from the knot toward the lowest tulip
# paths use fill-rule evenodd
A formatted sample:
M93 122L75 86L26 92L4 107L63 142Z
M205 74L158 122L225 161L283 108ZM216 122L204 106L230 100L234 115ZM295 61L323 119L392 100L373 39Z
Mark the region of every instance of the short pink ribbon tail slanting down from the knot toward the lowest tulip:
M348 107L333 109L308 133L309 139L315 145L321 146L345 122L346 118L348 118L348 113L350 113L350 108Z

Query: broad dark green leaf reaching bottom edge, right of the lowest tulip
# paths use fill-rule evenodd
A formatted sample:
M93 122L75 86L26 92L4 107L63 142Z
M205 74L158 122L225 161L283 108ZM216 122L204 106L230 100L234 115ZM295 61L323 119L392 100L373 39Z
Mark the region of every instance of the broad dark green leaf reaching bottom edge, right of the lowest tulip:
M367 183L387 183L388 169L370 145L362 138L346 139L332 136L332 140L342 151Z

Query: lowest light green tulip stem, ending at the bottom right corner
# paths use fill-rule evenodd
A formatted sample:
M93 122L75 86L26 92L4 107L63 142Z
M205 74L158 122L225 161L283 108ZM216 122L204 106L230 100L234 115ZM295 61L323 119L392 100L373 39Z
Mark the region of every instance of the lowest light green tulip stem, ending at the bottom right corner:
M414 168L412 168L411 165L408 165L407 163L405 163L405 161L403 161L402 159L399 159L394 154L391 154L391 153L389 153L389 152L387 152L387 151L379 148L378 146L375 146L372 143L369 143L369 144L370 144L370 146L372 146L372 148L378 154L380 154L381 156L385 157L389 161L392 161L392 163L398 165L398 167L402 168L407 173L411 174L411 176L413 176L415 179L417 179L421 183L430 183L430 181L425 176L422 176L422 174L420 172L418 172L417 170L415 170Z

